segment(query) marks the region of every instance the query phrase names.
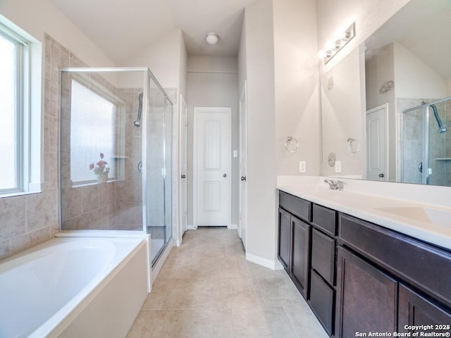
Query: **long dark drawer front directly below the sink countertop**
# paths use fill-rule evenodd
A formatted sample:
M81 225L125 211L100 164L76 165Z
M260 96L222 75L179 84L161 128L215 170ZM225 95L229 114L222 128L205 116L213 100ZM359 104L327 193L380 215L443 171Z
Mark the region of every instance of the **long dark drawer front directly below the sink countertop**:
M451 253L340 213L339 238L402 280L451 305Z

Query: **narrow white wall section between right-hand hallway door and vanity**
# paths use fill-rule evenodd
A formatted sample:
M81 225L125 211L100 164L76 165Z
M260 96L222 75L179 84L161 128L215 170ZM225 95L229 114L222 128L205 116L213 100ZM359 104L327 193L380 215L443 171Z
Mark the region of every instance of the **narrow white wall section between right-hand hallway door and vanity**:
M245 9L247 258L276 263L273 1Z

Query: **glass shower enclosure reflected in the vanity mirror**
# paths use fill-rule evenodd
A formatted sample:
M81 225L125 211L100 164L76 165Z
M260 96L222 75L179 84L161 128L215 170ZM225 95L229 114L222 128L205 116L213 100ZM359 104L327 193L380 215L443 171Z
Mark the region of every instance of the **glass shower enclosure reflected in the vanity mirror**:
M451 186L451 97L410 99L402 111L402 182Z

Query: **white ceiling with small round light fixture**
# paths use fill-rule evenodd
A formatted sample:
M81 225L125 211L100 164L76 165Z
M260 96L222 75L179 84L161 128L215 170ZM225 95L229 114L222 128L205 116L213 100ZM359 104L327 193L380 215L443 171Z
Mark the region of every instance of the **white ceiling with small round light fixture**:
M245 6L255 0L51 0L111 60L120 65L180 28L187 53L235 56ZM218 43L205 37L216 32Z

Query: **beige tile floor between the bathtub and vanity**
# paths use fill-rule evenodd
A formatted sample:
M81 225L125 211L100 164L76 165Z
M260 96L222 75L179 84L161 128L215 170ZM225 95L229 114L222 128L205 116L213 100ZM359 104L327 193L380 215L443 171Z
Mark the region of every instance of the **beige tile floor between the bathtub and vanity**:
M128 338L327 338L283 270L250 263L236 230L189 230Z

